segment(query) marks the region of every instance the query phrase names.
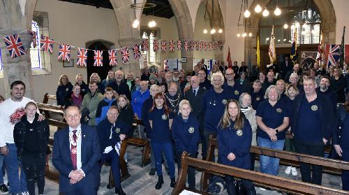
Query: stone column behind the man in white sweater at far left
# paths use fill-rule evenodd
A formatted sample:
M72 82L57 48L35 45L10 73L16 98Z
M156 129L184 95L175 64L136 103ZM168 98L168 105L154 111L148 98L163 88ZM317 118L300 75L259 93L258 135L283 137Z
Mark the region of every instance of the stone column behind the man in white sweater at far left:
M0 36L5 37L13 35L24 29L0 29ZM3 63L3 88L5 89L6 98L10 97L10 84L13 81L20 80L26 85L25 95L27 98L34 98L33 77L31 76L30 45L31 36L27 31L19 33L22 44L27 54L12 59L3 40L0 40L1 60Z

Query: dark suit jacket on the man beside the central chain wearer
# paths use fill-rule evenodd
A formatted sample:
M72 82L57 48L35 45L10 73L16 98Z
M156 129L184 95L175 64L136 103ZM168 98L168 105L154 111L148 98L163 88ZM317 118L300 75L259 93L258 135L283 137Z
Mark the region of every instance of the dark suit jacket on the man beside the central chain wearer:
M204 97L205 93L206 93L206 89L199 87L198 91L196 92L196 96L194 96L193 94L193 88L190 88L184 94L184 99L188 100L189 103L191 104L192 112L194 116L198 118L200 126L203 125L203 120L204 120L204 114L202 113L202 110L201 110L201 100Z

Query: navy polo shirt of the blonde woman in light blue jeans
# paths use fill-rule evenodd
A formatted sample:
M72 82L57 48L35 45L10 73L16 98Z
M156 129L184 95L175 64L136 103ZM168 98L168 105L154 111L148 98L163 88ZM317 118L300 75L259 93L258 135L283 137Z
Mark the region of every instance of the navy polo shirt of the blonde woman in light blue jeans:
M289 111L283 101L276 102L273 107L268 100L264 100L260 102L255 116L260 116L262 122L265 123L267 127L275 129L283 123L283 118L289 117ZM257 128L257 136L264 139L270 139L267 132L260 129L259 126ZM278 137L278 140L285 139L285 130L279 132L276 136Z

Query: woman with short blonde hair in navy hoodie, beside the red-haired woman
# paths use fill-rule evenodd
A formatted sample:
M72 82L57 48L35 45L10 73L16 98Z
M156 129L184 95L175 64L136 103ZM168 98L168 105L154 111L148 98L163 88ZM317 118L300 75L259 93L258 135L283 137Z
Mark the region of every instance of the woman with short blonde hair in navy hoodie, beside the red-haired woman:
M191 104L188 100L179 102L179 115L173 119L172 139L176 150L178 174L181 170L181 153L186 151L189 157L196 158L199 143L199 122L191 114ZM189 189L195 189L195 169L188 168Z

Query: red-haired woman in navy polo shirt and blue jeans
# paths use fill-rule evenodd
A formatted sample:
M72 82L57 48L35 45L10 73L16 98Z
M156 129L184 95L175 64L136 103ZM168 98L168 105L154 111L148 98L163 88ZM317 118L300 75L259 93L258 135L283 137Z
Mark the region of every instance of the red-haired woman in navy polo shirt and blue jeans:
M154 96L153 107L149 111L149 123L151 126L151 149L154 153L156 172L158 173L158 182L155 189L161 189L163 185L162 155L165 154L170 170L171 183L174 187L176 179L174 177L174 159L172 150L172 137L170 126L172 124L172 115L168 108L163 93L156 93Z

